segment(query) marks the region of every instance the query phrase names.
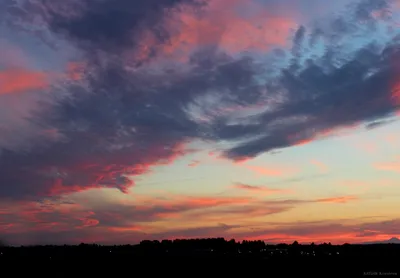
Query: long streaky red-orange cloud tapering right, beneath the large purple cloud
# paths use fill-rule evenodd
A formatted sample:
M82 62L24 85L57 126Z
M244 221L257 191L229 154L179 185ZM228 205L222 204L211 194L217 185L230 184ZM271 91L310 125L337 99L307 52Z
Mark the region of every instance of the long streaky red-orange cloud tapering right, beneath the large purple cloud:
M79 243L96 238L124 243L122 240L127 240L124 236L129 234L137 240L159 239L188 227L206 228L210 223L233 223L228 225L239 227L242 225L238 223L244 220L264 221L265 217L297 206L355 200L347 196L263 200L257 197L138 195L134 200L121 201L111 200L105 194L82 201L77 198L79 194L74 195L42 198L40 202L4 201L0 206L2 235L12 244ZM68 231L71 235L66 235ZM121 241L119 236L122 236Z

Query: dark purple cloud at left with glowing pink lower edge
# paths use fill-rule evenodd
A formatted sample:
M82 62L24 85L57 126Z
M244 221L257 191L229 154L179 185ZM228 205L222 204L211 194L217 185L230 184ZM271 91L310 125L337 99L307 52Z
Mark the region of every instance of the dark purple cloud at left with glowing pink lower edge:
M164 75L129 74L120 62L96 68L95 77L87 77L89 89L71 87L68 100L50 114L38 115L63 140L29 152L3 151L0 183L13 186L0 187L0 196L37 197L92 187L125 192L132 184L126 175L143 174L152 165L193 151L183 145L191 139L211 138L188 117L185 104L191 99L208 89L253 86L242 65L246 60L224 59L213 72L193 62L193 72L169 73L178 79L171 85L164 85ZM241 78L233 83L231 74Z

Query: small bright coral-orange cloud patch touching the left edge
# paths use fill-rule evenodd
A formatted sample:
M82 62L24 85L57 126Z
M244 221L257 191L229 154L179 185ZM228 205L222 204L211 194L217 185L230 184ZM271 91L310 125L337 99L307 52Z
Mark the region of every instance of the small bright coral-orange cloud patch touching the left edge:
M45 72L17 68L0 71L0 95L43 90L49 85L49 76Z

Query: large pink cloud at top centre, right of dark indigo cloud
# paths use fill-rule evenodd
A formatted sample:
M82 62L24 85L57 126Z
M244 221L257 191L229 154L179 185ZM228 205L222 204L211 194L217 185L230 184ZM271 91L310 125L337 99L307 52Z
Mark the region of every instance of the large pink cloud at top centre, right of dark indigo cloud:
M161 57L179 62L187 62L192 51L212 45L229 54L284 47L291 31L297 27L293 18L248 0L209 1L201 12L181 5L163 25L171 37L167 44L155 50ZM135 58L146 60L154 51L151 46L157 45L157 39L152 32L144 31L141 42Z

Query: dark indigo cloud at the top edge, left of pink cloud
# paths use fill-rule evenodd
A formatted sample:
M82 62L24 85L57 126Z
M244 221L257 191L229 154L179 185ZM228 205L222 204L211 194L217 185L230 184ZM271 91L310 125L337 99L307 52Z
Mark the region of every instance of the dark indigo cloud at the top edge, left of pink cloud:
M7 1L6 1L7 2ZM12 21L27 27L41 20L50 31L92 50L115 51L133 47L139 28L154 29L166 39L160 19L179 4L196 4L197 0L104 0L104 1L8 1L5 6ZM15 23L14 23L15 24ZM95 47L96 49L93 49Z

